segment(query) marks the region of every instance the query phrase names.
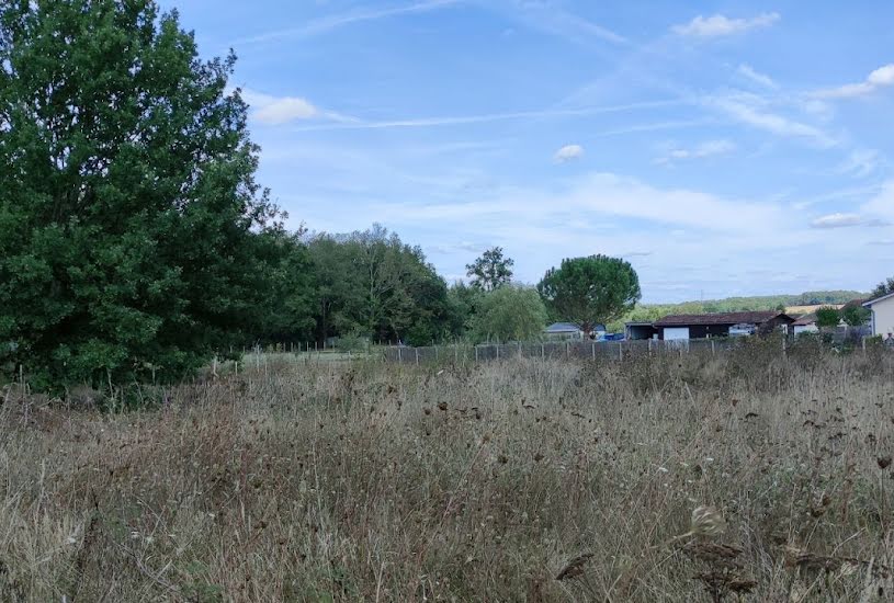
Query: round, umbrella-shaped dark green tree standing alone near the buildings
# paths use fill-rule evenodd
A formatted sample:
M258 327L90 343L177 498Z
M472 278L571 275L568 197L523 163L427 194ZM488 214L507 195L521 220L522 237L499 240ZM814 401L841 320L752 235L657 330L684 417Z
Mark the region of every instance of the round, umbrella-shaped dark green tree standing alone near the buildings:
M601 254L563 260L559 268L546 272L537 291L557 318L588 334L595 323L629 312L642 296L633 266Z

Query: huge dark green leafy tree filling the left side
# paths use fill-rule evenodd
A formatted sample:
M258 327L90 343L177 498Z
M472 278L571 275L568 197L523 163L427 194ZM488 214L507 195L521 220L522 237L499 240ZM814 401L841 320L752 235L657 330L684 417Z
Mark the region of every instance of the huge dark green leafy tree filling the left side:
M174 378L263 322L282 232L234 61L152 0L0 2L3 366Z

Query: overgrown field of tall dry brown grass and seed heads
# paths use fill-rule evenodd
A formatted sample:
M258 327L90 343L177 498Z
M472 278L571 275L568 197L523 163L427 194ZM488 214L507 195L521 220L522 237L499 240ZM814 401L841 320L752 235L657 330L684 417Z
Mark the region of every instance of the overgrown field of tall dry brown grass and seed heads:
M0 601L890 601L891 356L283 363L123 414L12 388Z

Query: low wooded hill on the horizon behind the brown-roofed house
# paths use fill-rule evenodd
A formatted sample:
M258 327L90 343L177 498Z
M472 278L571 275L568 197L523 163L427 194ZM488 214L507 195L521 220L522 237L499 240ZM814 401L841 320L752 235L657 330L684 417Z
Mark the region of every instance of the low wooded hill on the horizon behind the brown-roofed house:
M642 304L636 306L619 322L609 325L609 329L620 331L624 322L652 322L669 314L712 314L749 310L774 310L792 306L815 306L818 304L840 305L851 299L865 298L868 293L859 291L811 291L797 295L762 295L755 297L727 297L726 299L705 299L704 302L683 302L681 304Z

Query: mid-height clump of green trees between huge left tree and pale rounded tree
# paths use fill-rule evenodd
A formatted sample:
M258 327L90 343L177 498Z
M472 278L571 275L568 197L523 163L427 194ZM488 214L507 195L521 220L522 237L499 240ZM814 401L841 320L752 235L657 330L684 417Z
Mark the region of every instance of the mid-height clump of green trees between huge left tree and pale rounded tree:
M426 345L461 328L444 280L419 247L374 225L309 241L317 337L366 337Z

